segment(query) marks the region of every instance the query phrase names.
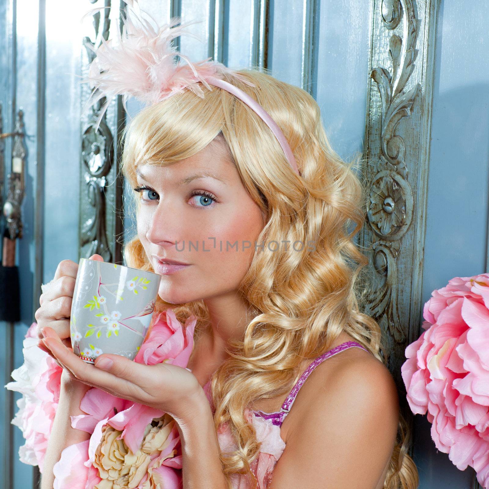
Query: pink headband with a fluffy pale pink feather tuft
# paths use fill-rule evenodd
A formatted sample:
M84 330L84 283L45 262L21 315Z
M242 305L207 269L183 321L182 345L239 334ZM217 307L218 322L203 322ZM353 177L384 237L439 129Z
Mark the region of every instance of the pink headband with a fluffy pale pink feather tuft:
M133 6L133 2L124 1ZM146 15L150 17L148 14ZM180 23L180 19L175 17L171 19L170 23L159 26L150 17L155 24L153 26L142 17L137 15L132 15L132 17L138 20L139 25L135 25L126 15L123 19L122 34L118 33L116 45L112 44L112 40L105 41L102 38L100 47L92 48L96 57L90 63L88 77L83 81L89 83L93 89L86 108L102 98L106 98L97 119L97 127L112 98L117 95L123 96L123 104L126 108L127 99L130 96L147 105L152 105L185 89L189 89L203 98L204 93L199 82L208 89L211 89L209 85L214 85L232 93L263 119L280 143L292 170L300 175L289 143L270 114L243 90L226 82L221 77L228 75L252 87L254 85L240 73L222 63L209 61L210 58L192 63L187 56L178 52L172 45L172 40L178 36L195 37L182 30L195 22L186 22L176 26ZM177 55L185 64L175 63Z

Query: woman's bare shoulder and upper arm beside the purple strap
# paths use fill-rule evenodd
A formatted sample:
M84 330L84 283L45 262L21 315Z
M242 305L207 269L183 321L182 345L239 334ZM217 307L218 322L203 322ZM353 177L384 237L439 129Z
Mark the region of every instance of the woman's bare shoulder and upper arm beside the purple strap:
M387 367L349 348L316 367L303 389L269 489L382 487L399 422L397 388Z

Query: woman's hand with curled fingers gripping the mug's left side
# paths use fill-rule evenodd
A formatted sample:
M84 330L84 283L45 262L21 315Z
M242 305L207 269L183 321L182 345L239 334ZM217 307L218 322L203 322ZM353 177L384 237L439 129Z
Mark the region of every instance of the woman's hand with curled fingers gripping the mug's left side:
M89 260L103 262L100 255L92 255ZM71 301L75 290L76 274L78 264L71 260L63 260L59 263L54 274L54 279L46 292L39 297L40 308L35 312L34 317L37 321L37 335L39 338L38 346L52 356L51 351L42 342L42 329L49 326L54 330L55 335L63 342L67 348L71 348L69 318L71 315ZM56 360L60 365L60 363ZM61 367L61 365L60 365Z

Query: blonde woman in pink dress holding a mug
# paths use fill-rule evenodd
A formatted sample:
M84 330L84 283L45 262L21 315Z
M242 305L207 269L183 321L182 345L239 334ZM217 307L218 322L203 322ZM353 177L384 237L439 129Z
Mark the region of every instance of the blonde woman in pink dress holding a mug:
M236 73L222 78L271 115L299 171L260 116L224 89L180 91L131 121L122 171L137 236L125 260L161 274L157 311L197 318L190 371L116 355L92 366L61 345L70 346L60 318L77 271L61 262L36 312L52 337L41 348L64 367L42 489L61 450L88 435L68 414L81 413L90 386L177 420L185 489L417 487L381 330L356 299L367 264L353 241L361 184L329 145L311 95L265 72ZM104 357L113 360L105 372Z

